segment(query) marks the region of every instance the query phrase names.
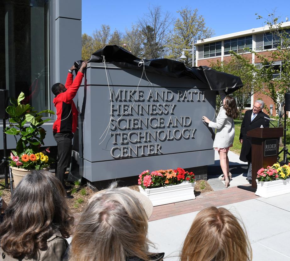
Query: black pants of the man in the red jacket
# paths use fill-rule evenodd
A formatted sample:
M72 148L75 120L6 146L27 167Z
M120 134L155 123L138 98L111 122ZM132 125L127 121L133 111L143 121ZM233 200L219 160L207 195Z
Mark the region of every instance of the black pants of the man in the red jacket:
M72 138L74 134L68 133L53 133L53 137L57 142L57 169L56 176L59 178L61 183L64 185L64 173L66 168L70 164L71 150L72 150Z

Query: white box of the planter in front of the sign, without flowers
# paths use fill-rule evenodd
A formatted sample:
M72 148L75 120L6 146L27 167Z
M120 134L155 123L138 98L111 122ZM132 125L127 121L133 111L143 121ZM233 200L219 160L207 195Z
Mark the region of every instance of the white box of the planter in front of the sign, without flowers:
M140 193L148 197L153 206L165 205L190 199L195 199L194 183L183 181L178 185L164 186L160 188L146 188L139 186Z

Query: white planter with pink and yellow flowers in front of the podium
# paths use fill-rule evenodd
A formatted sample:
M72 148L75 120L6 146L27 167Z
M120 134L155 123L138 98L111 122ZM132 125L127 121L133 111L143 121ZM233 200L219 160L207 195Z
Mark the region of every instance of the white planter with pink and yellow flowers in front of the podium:
M279 163L257 172L257 191L260 197L274 197L290 193L290 166Z

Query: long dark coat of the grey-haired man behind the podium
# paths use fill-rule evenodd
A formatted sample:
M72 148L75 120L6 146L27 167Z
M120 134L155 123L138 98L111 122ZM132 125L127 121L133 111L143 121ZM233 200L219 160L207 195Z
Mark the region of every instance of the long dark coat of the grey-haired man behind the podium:
M240 139L243 139L240 160L252 162L252 140L251 137L247 137L247 131L259 128L263 125L264 128L269 128L269 120L264 119L264 117L269 117L267 114L260 111L258 115L251 121L253 110L248 110L245 112L243 122L241 125Z

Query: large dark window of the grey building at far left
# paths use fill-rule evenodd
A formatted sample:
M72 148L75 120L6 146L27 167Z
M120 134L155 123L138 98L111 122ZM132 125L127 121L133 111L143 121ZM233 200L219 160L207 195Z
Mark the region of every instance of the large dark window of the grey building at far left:
M10 97L24 92L22 103L41 111L50 108L49 1L20 2L0 8L0 88Z

